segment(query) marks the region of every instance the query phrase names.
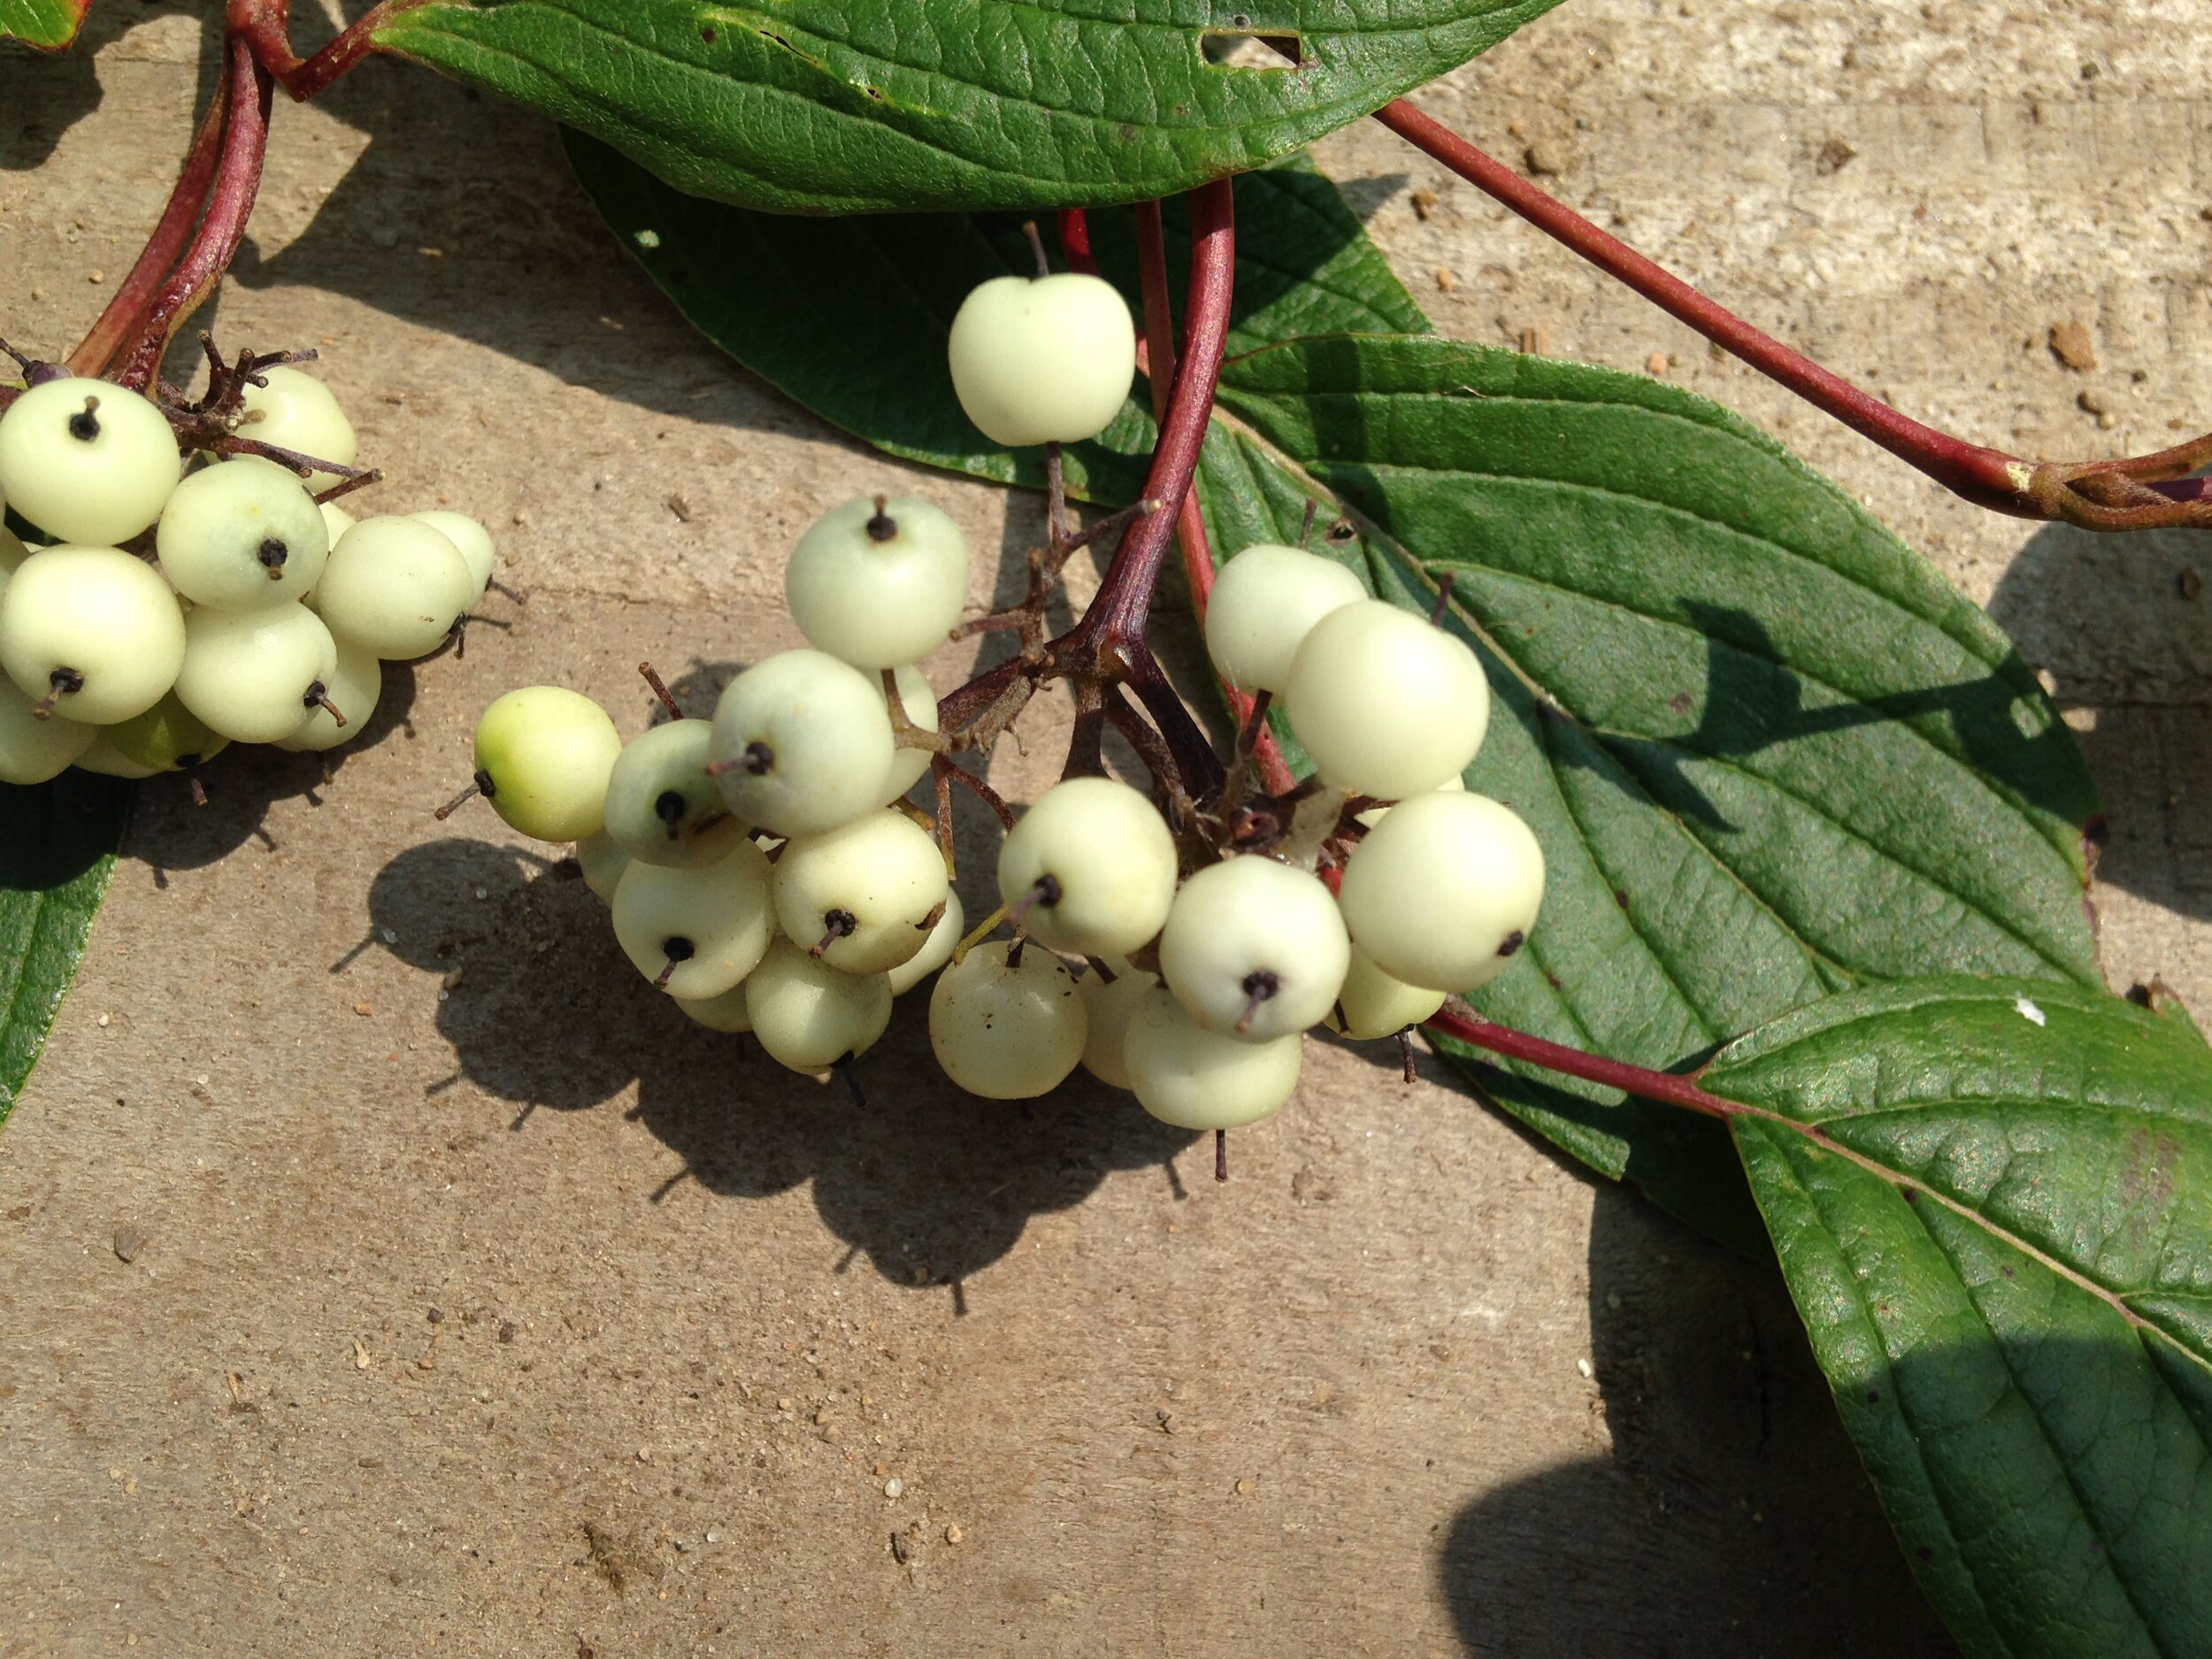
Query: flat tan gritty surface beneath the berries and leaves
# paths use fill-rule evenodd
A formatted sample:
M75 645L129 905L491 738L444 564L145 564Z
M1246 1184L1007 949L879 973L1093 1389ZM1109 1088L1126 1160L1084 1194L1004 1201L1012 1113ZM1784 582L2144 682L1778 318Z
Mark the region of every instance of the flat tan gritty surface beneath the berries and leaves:
M1916 414L2139 449L2212 418L2192 22L1568 0L1427 102ZM11 338L97 312L206 77L197 11L119 0L0 60ZM1389 135L1323 161L1442 327L1666 356L1989 602L2112 807L2115 984L2212 1006L2205 538L1980 515ZM509 684L637 728L639 657L785 644L830 500L1037 524L697 345L546 124L396 64L281 108L217 321L319 343L376 502L487 518L529 604L327 785L146 790L0 1133L0 1655L1944 1652L1772 1276L1455 1088L1316 1046L1217 1188L1102 1091L956 1097L909 1013L858 1113L657 1006L489 814L429 821ZM1024 737L1009 790L1053 710Z

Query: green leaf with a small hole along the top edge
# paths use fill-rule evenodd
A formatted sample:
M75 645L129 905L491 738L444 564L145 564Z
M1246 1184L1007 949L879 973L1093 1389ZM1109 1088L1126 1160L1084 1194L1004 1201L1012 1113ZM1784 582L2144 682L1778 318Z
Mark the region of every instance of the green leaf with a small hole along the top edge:
M1555 0L487 0L383 51L772 212L1146 201L1287 155ZM1298 35L1301 62L1208 46Z

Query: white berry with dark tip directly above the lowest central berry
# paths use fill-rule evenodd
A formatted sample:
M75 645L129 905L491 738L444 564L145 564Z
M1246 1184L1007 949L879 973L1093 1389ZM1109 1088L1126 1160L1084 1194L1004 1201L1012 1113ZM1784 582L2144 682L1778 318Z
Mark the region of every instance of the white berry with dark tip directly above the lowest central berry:
M1159 973L1208 1031L1245 1042L1321 1024L1352 940L1321 878L1243 854L1183 883L1159 931Z

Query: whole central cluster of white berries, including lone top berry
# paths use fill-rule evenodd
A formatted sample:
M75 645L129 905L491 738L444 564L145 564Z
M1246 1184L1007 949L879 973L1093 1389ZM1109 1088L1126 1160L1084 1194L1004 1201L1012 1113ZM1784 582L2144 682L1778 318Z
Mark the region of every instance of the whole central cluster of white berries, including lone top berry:
M962 305L951 372L993 440L1082 440L1128 398L1135 330L1097 276L1004 276ZM1310 1029L1402 1040L1447 993L1506 967L1535 925L1544 856L1509 807L1462 783L1489 684L1460 639L1371 599L1340 564L1250 546L1206 615L1217 675L1252 697L1234 763L1201 743L1192 787L1166 728L1144 728L1144 732L1121 726L1152 772L1146 794L1099 759L1099 721L1133 714L1115 670L1062 666L1066 641L1042 637L1044 595L1082 542L1062 533L1057 495L1051 520L1029 602L960 628L969 551L953 522L920 500L845 502L785 571L812 648L745 668L712 721L684 719L646 668L672 719L628 745L577 692L509 692L476 728L462 799L480 792L515 830L577 843L637 971L805 1073L865 1053L891 1000L936 973L929 1042L964 1091L1026 1099L1086 1066L1168 1124L1228 1130L1290 1099ZM940 730L914 664L991 626L1020 630L1026 681L971 708L980 677L956 695L967 721ZM947 754L987 748L1053 672L1077 679L1091 739L1015 818ZM1155 690L1172 701L1166 681ZM1316 772L1252 799L1276 699ZM933 821L905 801L931 772ZM1006 823L1000 907L964 938L953 779ZM991 938L1002 925L1013 936Z

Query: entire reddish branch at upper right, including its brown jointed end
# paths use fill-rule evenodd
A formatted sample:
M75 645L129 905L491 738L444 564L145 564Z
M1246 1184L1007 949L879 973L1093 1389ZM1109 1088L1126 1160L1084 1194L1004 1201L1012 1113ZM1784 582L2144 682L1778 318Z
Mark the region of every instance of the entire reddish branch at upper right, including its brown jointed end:
M2212 465L2212 434L2154 456L2075 465L2026 462L1964 442L1898 414L1752 327L1405 100L1376 111L1376 119L1659 310L1978 507L2110 531L2212 524L2212 498L2201 480L2174 482Z

